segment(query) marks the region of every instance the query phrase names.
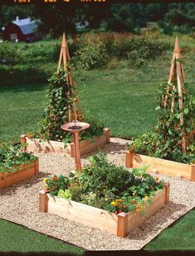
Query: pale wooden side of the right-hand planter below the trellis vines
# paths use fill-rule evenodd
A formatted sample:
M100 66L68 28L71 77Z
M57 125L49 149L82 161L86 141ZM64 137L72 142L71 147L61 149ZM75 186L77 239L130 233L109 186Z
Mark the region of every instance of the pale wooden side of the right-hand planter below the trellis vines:
M168 176L187 178L195 181L195 164L178 163L129 152L126 153L125 162L127 168L139 168L149 164L149 172L162 173Z

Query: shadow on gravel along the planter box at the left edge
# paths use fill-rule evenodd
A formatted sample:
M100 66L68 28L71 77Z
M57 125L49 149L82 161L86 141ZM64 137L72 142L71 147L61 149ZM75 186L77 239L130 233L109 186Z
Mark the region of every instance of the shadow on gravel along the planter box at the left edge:
M36 183L43 183L43 178L47 178L51 174L52 173L38 173L37 175L34 175L31 178L27 178L20 183L13 184L12 186L9 186L7 188L3 188L0 191L0 195L12 195L16 193L18 188L31 188L32 185ZM42 186L40 188L42 188Z

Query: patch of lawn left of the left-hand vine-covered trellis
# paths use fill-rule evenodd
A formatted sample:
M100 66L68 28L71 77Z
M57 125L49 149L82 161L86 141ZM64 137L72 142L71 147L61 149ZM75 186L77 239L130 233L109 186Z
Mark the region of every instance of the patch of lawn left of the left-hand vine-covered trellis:
M36 131L46 100L46 85L16 85L0 88L0 142L19 140Z

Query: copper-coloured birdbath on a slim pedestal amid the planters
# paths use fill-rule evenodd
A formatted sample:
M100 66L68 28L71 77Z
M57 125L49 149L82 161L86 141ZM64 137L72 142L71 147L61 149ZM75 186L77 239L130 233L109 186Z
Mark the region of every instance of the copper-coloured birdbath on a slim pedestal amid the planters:
M61 129L71 132L73 134L73 140L75 144L75 164L76 170L81 169L80 163L80 147L79 147L79 133L90 127L90 123L83 123L77 120L72 121L72 123L65 123L61 125Z

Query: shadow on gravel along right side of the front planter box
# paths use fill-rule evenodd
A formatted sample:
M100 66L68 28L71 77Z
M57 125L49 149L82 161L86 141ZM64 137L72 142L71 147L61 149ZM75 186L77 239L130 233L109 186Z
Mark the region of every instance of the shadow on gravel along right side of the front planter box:
M165 223L167 223L168 220L172 220L173 223L178 218L182 217L180 215L181 213L178 213L178 216L176 216L176 212L181 211L183 208L186 207L187 205L181 203L173 203L172 201L170 201L168 205L166 205L164 208L161 208L158 213L155 213L138 228L135 228L132 232L130 232L127 238L133 240L144 240L146 238L149 238L149 233L151 232L151 230L153 233L158 233L158 231L162 232L164 230ZM169 223L168 226L172 223Z

